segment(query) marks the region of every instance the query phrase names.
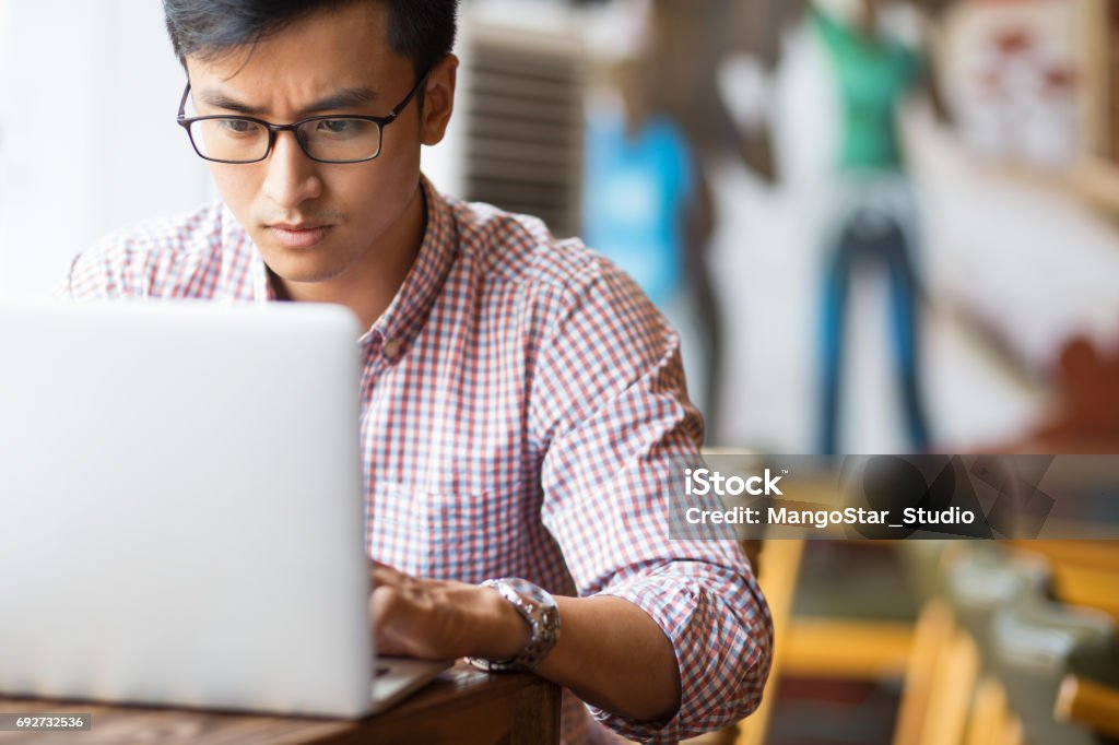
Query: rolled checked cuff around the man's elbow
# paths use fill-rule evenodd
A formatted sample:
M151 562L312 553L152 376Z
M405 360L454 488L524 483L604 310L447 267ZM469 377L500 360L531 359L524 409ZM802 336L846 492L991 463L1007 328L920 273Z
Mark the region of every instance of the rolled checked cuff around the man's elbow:
M770 636L756 600L753 609L742 611L749 628L734 636L721 626L736 614L698 578L634 577L596 594L620 597L648 613L673 644L680 670L680 708L669 720L631 719L587 705L613 732L642 743L676 743L733 724L761 702ZM759 632L765 643L758 642Z

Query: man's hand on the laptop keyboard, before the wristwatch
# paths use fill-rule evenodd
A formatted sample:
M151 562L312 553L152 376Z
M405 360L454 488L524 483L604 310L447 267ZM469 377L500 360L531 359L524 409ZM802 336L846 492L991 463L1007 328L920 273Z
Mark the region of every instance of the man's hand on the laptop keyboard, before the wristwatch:
M528 643L528 624L490 587L417 579L369 562L369 615L378 654L505 659Z

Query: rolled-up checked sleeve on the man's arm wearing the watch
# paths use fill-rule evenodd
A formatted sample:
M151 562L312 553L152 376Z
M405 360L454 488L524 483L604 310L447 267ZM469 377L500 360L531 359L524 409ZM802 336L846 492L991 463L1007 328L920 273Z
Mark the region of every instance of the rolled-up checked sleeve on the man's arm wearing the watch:
M733 540L674 539L703 422L688 402L676 333L620 271L602 262L570 289L534 383L546 442L543 519L580 595L612 595L648 613L676 652L680 708L669 722L591 713L612 730L676 742L733 723L761 701L772 625Z

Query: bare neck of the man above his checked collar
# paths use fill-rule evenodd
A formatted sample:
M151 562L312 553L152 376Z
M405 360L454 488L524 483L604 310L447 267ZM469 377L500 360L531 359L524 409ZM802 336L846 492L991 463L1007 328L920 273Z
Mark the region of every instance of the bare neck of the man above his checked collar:
M385 312L415 263L426 227L426 204L417 185L401 219L342 275L323 282L292 282L269 272L276 298L336 303L357 315L363 329Z

